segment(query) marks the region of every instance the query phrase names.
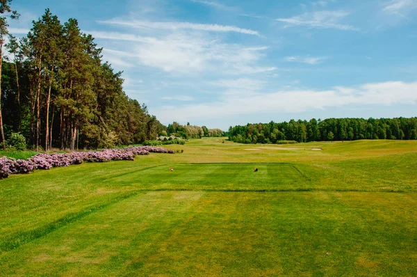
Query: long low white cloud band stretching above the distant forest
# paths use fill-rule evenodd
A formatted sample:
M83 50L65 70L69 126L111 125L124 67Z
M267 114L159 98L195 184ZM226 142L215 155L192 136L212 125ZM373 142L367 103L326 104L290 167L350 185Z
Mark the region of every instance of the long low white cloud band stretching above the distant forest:
M223 118L252 113L299 113L345 105L392 105L417 102L417 82L391 81L352 88L279 90L276 93L261 93L265 83L250 79L220 80L218 84L224 86L226 91L215 102L175 108L165 107L156 115L162 121L168 122L186 121L190 119L190 115L193 115L193 119Z

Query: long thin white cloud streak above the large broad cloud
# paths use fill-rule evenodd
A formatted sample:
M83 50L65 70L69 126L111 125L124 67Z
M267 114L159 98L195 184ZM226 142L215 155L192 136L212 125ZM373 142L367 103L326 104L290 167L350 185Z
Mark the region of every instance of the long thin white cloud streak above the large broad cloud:
M250 29L242 29L236 26L224 26L218 24L199 24L190 22L145 22L136 20L110 19L105 21L98 21L103 24L127 26L138 29L164 29L164 30L197 30L197 31L213 31L213 32L236 32L247 35L261 36L258 31Z

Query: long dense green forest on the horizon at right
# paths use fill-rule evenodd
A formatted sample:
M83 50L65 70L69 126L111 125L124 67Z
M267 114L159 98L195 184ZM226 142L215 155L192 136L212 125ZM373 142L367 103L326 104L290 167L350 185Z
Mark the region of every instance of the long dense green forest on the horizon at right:
M247 124L229 128L237 143L280 141L354 141L358 139L417 139L417 118L328 118Z

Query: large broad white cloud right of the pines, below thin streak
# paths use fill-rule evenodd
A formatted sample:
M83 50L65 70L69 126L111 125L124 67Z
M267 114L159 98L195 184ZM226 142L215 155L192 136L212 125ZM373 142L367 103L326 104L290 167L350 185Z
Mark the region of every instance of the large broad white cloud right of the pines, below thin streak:
M125 33L89 32L95 38L125 40L125 51L104 49L104 57L111 63L127 66L133 63L159 68L165 72L198 73L203 71L224 74L256 74L276 70L256 63L268 47L245 47L210 40L206 35L172 33L160 38Z

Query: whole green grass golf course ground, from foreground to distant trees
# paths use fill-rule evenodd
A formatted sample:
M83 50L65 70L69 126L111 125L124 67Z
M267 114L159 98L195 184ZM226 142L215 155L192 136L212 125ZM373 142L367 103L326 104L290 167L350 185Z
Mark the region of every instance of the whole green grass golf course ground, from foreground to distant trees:
M1 180L0 275L417 275L416 142L171 148Z

